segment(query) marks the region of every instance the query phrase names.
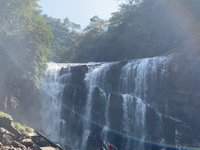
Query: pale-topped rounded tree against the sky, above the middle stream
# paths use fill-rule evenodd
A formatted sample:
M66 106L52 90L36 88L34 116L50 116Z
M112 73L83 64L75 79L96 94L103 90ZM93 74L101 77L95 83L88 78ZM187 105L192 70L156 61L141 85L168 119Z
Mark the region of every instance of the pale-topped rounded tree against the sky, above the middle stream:
M89 25L81 34L80 42L74 50L72 61L87 62L97 61L99 41L107 32L108 22L94 16L90 19Z

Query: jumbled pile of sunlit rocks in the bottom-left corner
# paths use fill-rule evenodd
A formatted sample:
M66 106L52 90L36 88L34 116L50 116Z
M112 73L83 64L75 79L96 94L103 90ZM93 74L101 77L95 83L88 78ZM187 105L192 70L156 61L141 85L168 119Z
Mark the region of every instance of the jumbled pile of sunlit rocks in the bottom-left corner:
M37 131L24 135L12 119L0 117L0 150L63 150Z

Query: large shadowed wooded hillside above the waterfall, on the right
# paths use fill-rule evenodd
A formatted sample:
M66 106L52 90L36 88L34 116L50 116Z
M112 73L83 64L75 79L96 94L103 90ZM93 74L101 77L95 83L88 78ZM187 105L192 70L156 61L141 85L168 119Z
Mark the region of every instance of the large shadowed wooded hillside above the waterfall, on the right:
M115 61L173 51L199 30L199 8L199 0L127 0L108 21L91 18L65 61Z

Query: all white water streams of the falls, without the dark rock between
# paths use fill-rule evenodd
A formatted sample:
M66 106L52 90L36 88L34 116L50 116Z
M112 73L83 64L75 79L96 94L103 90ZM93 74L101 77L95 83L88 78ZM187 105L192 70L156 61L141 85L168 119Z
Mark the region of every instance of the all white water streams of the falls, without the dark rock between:
M156 57L139 59L127 63L121 69L119 80L119 93L123 98L123 122L122 130L128 138L125 145L125 150L131 150L133 145L131 143L133 138L138 139L138 150L144 149L145 140L145 116L146 103L148 100L147 91L149 90L149 82L157 80L158 66L163 65L162 72L165 71L166 57ZM42 129L53 141L64 143L65 139L60 138L61 124L67 124L61 120L61 106L62 93L64 85L61 83L63 76L59 75L62 67L70 68L70 66L77 66L80 64L54 64L50 63L41 84L42 93ZM81 64L82 65L82 64ZM105 108L105 125L102 128L101 137L104 142L109 142L108 132L110 126L110 94L106 93L108 87L106 83L107 73L110 71L113 63L104 64L85 64L89 67L89 71L85 77L85 84L87 86L87 100L83 114L83 133L80 137L81 150L87 150L87 141L91 134L92 108L93 108L93 93L94 89L98 87L106 98ZM70 70L67 75L70 76ZM66 75L65 75L66 76ZM75 93L74 93L75 94ZM108 94L108 96L106 96ZM134 104L130 107L130 104ZM113 119L113 118L112 118ZM63 141L63 142L62 142ZM77 140L78 141L78 140Z

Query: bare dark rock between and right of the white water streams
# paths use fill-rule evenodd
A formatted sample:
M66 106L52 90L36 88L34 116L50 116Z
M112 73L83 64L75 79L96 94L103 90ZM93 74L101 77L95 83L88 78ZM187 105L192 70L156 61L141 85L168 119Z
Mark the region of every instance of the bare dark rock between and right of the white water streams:
M151 149L151 142L162 143L163 139L164 143L169 145L198 146L198 143L200 143L200 59L183 58L186 58L186 56L170 56L169 62L157 64L153 71L152 68L148 67L149 70L145 70L148 73L145 87L141 89L143 93L140 95L140 98L146 104L143 131L145 140L147 140L145 150ZM108 131L107 138L109 142L121 149L127 143L128 138L123 131L123 98L120 96L121 93L127 91L120 91L119 85L121 69L126 63L126 61L113 63L103 77L104 81L102 82L104 83L99 83L98 86L93 87L92 121L91 133L87 143L88 149L95 149L95 145L103 140L102 137L99 138L99 135L101 135L102 128L105 125L105 108L108 97L110 98L108 112L110 131ZM153 65L153 62L149 63L148 65ZM88 94L84 81L87 71L88 68L86 69L84 65L71 67L71 78L66 82L63 93L62 118L66 122L70 122L67 128L71 131L66 133L70 133L72 137L75 135L78 140L80 140L78 137L82 137L83 133L84 119L82 117L84 116ZM133 81L130 81L133 91L135 73L132 74ZM135 93L128 94L135 96ZM130 132L133 136L130 143L137 148L140 141L136 139L141 131L140 127L134 127L136 98L132 99L128 109L131 110L128 112L129 115L133 117L130 120L132 125Z

